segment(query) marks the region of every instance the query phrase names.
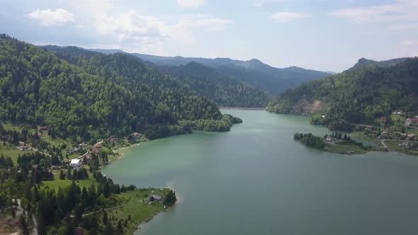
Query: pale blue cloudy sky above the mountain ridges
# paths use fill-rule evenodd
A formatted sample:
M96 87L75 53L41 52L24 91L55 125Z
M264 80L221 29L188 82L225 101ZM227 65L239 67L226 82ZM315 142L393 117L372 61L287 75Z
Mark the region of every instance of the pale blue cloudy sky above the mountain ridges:
M342 71L360 57L418 56L418 1L0 0L0 31L35 45Z

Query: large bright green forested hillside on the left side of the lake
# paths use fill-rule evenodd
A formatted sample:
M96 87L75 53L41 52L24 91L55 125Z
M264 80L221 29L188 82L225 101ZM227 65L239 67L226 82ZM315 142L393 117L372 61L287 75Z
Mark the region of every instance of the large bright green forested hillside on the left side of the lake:
M215 103L137 57L56 49L49 52L0 35L1 121L47 125L52 136L82 139L191 132L179 120L230 125Z

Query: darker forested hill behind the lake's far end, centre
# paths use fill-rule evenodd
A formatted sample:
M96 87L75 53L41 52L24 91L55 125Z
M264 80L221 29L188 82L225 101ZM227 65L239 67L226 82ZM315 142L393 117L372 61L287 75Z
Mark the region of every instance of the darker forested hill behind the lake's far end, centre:
M266 91L244 86L238 79L224 76L215 69L196 62L159 68L181 79L200 96L223 107L264 108L271 98Z

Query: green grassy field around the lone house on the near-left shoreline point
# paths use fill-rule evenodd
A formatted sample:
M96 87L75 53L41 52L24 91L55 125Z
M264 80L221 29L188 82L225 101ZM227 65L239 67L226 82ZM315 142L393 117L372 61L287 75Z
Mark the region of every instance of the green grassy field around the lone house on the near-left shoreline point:
M159 202L148 204L142 201L148 200L151 195L164 196L168 192L168 188L164 188L163 190L158 188L147 188L132 190L120 195L115 195L120 202L123 202L123 204L129 203L129 205L123 205L122 207L116 207L108 210L108 218L111 219L113 227L116 228L119 220L124 222L125 220L128 220L130 215L131 219L128 220L128 227L124 227L125 230L123 231L123 234L133 234L141 222L149 221L149 219L152 219L155 214L164 210L164 205ZM99 217L102 216L101 212L100 215L97 215Z

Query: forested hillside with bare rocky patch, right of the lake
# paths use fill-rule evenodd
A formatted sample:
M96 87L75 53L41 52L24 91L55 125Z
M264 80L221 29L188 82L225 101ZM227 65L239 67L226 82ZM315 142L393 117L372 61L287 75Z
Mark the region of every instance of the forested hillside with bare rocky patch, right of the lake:
M315 115L312 122L340 130L351 123L372 123L394 110L417 113L418 58L391 67L349 69L307 82L278 96L269 103L268 110L318 113L321 115Z

